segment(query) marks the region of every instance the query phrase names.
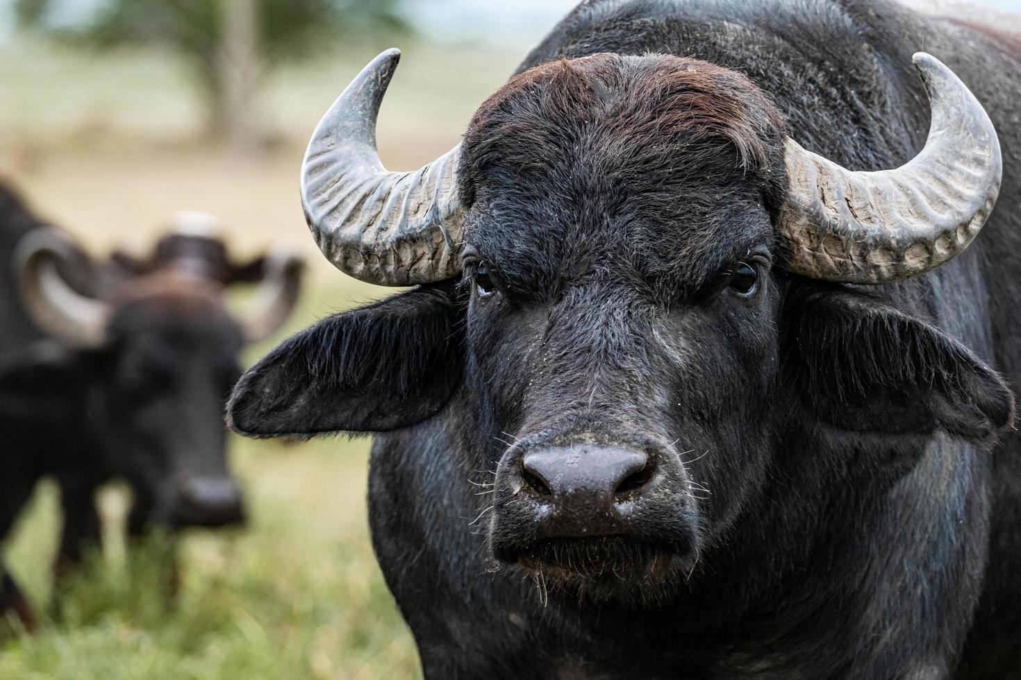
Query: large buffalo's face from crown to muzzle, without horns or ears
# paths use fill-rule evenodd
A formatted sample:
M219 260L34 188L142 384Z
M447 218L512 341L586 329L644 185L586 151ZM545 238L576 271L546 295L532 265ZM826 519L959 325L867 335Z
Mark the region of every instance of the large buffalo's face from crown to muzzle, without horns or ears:
M517 79L464 145L467 345L512 444L490 545L592 596L659 595L766 467L783 126L709 64L583 61Z

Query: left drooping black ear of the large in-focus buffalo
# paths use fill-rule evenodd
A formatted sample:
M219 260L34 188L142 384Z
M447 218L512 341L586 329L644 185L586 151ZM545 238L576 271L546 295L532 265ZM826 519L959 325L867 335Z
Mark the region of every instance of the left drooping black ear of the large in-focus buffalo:
M248 369L227 406L248 436L383 432L436 414L460 381L451 282L336 314Z

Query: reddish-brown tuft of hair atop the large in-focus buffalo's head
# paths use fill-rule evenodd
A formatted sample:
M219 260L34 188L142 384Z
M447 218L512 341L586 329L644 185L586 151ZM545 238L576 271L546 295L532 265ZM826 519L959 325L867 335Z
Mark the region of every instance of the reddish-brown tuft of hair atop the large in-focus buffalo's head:
M527 169L530 149L569 147L592 126L607 153L619 144L618 156L641 167L676 165L672 150L700 146L732 148L743 171L782 163L783 117L743 74L672 55L595 54L531 68L484 102L466 135L467 169Z

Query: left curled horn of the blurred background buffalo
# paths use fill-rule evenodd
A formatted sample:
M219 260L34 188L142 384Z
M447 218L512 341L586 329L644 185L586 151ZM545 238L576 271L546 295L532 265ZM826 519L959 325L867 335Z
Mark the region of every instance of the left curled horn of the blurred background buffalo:
M106 341L110 307L76 291L59 271L60 264L87 262L82 250L53 227L29 231L13 254L21 300L35 323L76 347L97 348Z

